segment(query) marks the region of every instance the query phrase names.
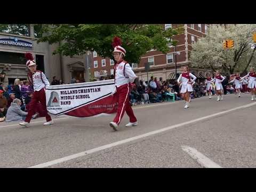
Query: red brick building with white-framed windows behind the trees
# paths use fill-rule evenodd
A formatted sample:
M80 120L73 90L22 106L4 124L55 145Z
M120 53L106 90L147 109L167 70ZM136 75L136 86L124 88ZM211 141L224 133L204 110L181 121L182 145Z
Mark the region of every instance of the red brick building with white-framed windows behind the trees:
M198 38L207 35L207 30L212 24L182 24L184 33L173 36L173 39L178 41L176 51L180 52L177 54L177 73L180 73L180 68L185 65L190 65L189 55L192 50L192 44L197 42ZM222 24L214 24L218 26L227 26ZM164 24L163 27L177 28L180 24ZM160 51L151 50L141 57L140 63L131 63L132 68L140 79L143 78L147 81L147 73L145 72L145 63L150 63L150 70L148 72L150 76L162 77L166 79L175 79L175 47L170 46L170 51L163 54ZM93 64L91 67L91 74L97 80L101 77L109 77L114 73L114 61L109 58L101 58L97 53L93 53ZM190 68L191 73L196 75L198 78L204 78L207 70ZM209 71L211 73L211 71Z

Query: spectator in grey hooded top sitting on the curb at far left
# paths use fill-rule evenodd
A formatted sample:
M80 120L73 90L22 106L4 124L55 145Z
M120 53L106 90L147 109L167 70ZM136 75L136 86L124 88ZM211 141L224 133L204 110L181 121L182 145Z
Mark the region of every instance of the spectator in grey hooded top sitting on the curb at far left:
M21 101L20 99L13 99L11 106L7 110L6 114L6 122L16 122L16 121L24 121L27 112L24 112L20 109Z

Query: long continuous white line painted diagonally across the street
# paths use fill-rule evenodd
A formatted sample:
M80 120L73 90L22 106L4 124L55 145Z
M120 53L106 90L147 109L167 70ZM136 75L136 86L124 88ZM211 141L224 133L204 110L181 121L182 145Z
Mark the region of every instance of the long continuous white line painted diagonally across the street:
M108 148L111 148L111 147L122 145L122 144L130 142L130 141L145 138L145 137L148 137L150 135L154 135L154 134L157 134L157 133L168 131L168 130L171 130L171 129L174 129L174 128L177 128L177 127L188 125L190 123L195 123L195 122L207 119L207 118L211 118L211 117L215 117L215 116L218 116L218 115L226 114L226 113L229 113L231 111L235 111L237 109L243 109L243 108L251 107L251 106L254 106L254 105L256 105L256 102L253 102L253 103L250 103L250 104L247 104L247 105L244 105L244 106L236 107L236 108L233 108L233 109L229 109L229 110L226 110L226 111L222 111L222 112L219 112L219 113L215 113L215 114L212 114L212 115L207 115L207 116L197 118L197 119L194 119L194 120L191 120L191 121L183 122L183 123L180 123L180 124L177 124L177 125L172 125L172 126L169 126L169 127L165 127L163 129L159 129L159 130L156 130L156 131L151 131L151 132L148 132L148 133L145 133L145 134L137 135L137 136L132 137L132 138L128 138L128 139L124 139L124 140L121 140L121 141L113 142L113 143L110 143L108 145L100 146L100 147L97 147L97 148L94 148L94 149L83 151L81 153L77 153L77 154L74 154L74 155L69 155L69 156L66 156L66 157L55 159L53 161L49 161L49 162L46 162L46 163L38 164L38 165L35 165L35 166L30 166L29 168L43 168L43 167L48 167L48 166L55 165L55 164L58 164L58 163L66 162L66 161L69 161L71 159L75 159L75 158L78 158L78 157L82 157L82 156L85 156L85 155L88 155L88 154L95 153L97 151L101 151L101 150L104 150L104 149L108 149Z

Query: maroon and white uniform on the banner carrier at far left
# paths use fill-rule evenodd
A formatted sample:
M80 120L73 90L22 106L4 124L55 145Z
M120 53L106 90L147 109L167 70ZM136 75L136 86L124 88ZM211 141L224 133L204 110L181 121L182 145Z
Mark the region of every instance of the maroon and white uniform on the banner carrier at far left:
M25 122L30 122L31 117L35 114L35 107L37 106L38 101L42 104L42 110L45 114L46 121L51 121L51 116L47 114L47 108L46 108L46 98L45 98L45 87L49 86L50 83L44 73L42 71L37 70L35 73L31 75L28 75L28 79L31 83L33 83L34 86L34 94L33 98L31 99L29 103L29 110L28 115L25 119Z

